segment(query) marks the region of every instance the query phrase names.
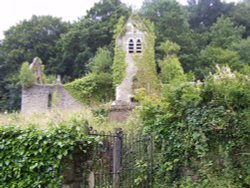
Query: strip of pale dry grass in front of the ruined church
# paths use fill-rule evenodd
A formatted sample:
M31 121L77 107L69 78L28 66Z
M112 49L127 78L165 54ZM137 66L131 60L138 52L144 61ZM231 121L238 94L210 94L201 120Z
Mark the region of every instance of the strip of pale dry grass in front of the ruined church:
M97 108L106 108L108 109L108 105L102 107L95 107ZM115 128L122 128L123 132L128 133L132 132L138 127L138 117L136 113L123 123L119 122L110 122L107 116L94 116L93 115L93 108L85 107L80 111L52 111L48 113L41 113L41 114L22 114L22 113L3 113L0 114L0 126L8 126L8 125L15 125L26 127L28 125L35 125L41 129L46 129L48 125L61 122L66 122L70 120L72 117L80 115L86 119L93 129L104 132L113 132Z

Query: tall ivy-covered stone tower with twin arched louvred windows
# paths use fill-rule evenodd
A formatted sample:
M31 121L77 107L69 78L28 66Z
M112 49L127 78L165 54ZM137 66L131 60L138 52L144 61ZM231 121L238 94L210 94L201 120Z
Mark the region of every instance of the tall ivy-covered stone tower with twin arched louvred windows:
M136 89L144 88L149 95L157 92L154 28L149 21L132 15L126 22L121 18L115 37L113 78L116 91L112 107L131 109Z

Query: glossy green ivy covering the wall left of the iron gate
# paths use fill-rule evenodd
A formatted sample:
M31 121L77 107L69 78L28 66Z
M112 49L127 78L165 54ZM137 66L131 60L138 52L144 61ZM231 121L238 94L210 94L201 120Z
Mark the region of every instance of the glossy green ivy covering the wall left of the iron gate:
M73 150L91 154L94 140L86 136L86 121L76 116L46 129L35 125L0 126L2 187L59 187L61 161ZM79 143L79 141L86 141ZM87 156L87 155L86 155Z

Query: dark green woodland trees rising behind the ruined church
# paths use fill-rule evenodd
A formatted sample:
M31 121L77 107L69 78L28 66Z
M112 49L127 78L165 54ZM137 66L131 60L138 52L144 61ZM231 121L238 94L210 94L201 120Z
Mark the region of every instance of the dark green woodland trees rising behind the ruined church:
M180 46L177 55L184 71L204 79L215 71L216 63L227 63L249 74L249 12L247 0L237 4L200 0L187 5L153 0L144 1L139 14L154 25L155 61L164 56L158 47L169 40ZM60 74L64 83L86 76L98 48L107 47L113 56L114 40L126 31L123 23L130 14L130 8L120 1L104 0L73 24L51 16L33 16L11 27L0 45L0 111L20 109L21 90L16 78L22 62L38 56L46 66L45 74ZM144 23L151 32L149 22ZM121 62L119 66L114 63L113 83L117 85L126 65L121 61L124 54L115 51L114 62Z

